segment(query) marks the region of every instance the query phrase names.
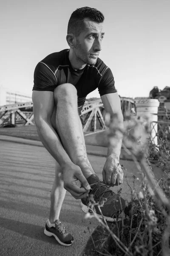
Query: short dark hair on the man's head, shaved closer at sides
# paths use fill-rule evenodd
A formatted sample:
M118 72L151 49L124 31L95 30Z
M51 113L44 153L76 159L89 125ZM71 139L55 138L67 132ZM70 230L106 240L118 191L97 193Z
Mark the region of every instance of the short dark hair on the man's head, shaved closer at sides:
M67 34L79 36L79 34L84 29L83 21L85 18L95 21L96 23L102 23L105 20L102 12L95 8L88 6L78 8L71 14L71 17L68 21Z

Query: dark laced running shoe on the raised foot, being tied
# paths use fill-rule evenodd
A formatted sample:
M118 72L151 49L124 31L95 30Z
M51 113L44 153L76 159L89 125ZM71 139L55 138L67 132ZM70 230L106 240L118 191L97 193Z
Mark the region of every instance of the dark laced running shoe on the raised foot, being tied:
M106 221L115 222L120 221L119 214L125 209L125 200L116 195L103 181L99 180L96 175L88 177L88 183L91 186L91 190L87 198L81 199L82 211L92 213L91 210L94 201L94 211L101 219L105 218ZM91 198L93 198L91 200ZM101 204L101 212L97 204ZM96 205L95 205L96 204Z

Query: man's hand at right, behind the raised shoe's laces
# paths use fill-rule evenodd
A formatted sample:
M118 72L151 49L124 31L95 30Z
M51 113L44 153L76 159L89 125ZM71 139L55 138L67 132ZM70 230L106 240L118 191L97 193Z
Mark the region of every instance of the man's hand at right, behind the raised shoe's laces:
M123 183L123 171L116 157L109 156L103 167L103 181L108 186L118 186Z

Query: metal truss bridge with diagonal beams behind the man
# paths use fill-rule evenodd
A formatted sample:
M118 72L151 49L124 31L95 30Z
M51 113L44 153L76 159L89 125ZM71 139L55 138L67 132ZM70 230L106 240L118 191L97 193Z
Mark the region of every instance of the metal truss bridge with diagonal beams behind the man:
M130 112L135 107L133 99L120 98L122 113ZM105 110L101 99L87 100L82 108L82 125L87 131L105 129ZM34 125L33 103L16 103L0 106L0 127Z

